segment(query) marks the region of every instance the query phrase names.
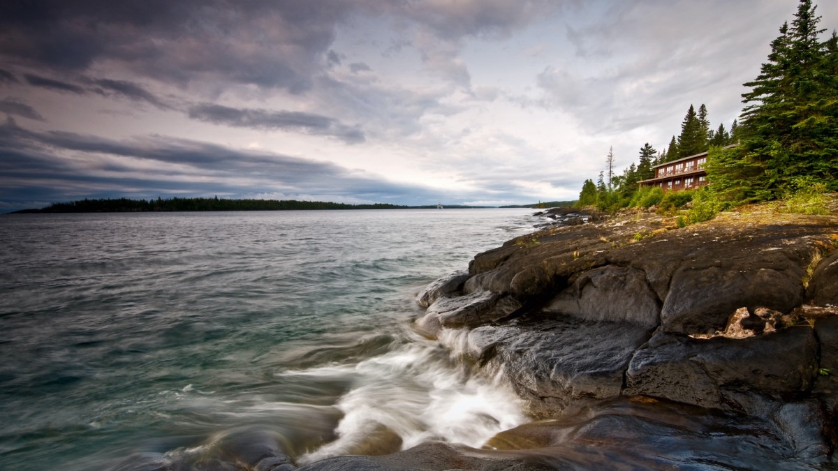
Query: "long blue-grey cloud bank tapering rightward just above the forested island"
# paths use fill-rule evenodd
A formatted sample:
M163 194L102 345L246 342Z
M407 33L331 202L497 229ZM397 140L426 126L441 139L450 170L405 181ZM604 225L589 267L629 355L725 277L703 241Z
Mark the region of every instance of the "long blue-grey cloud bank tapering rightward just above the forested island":
M122 186L121 186L122 185ZM117 141L0 125L0 201L57 201L128 194L329 194L425 204L428 189L350 173L333 163L174 137Z

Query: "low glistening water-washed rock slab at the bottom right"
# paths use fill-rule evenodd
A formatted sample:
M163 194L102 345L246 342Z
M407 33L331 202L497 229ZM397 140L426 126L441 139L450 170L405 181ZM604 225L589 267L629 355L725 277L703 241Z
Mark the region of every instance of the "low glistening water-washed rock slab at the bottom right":
M563 417L500 432L487 445L553 453L572 469L829 468L824 443L794 425L807 420L818 417L806 404L760 417L618 397L577 401Z

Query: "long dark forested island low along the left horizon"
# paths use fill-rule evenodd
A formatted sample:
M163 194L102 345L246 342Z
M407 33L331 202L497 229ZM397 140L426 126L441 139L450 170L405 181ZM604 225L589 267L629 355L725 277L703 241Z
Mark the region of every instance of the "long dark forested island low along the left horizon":
M445 208L485 208L452 204ZM225 199L225 198L158 198L80 199L69 203L53 203L39 210L19 210L15 213L142 213L153 211L282 211L282 210L427 210L437 204L404 206L399 204L345 204L294 199Z

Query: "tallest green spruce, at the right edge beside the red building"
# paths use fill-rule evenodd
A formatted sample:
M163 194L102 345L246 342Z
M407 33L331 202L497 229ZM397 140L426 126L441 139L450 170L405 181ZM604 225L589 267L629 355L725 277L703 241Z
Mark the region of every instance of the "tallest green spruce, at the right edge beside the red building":
M771 42L768 62L745 85L740 161L762 169L753 198L776 198L803 185L838 189L838 85L824 29L811 0L800 0L791 25Z

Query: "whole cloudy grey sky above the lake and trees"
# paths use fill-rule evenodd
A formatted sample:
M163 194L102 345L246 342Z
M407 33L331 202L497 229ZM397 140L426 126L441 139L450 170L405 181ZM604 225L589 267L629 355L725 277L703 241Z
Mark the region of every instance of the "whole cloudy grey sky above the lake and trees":
M0 211L83 198L576 199L705 103L730 127L794 0L0 6ZM824 28L838 2L821 0Z

